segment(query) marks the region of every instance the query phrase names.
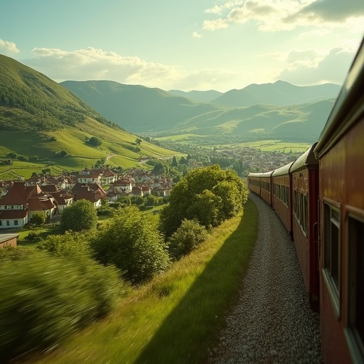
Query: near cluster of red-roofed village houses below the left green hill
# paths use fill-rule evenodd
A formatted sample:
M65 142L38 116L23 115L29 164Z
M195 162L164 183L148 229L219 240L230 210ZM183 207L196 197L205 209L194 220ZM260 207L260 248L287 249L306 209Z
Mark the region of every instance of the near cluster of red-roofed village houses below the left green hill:
M76 200L113 203L119 196L168 196L172 179L141 168L117 173L110 168L85 168L60 176L40 174L24 181L0 182L0 229L23 228L35 215L51 223Z

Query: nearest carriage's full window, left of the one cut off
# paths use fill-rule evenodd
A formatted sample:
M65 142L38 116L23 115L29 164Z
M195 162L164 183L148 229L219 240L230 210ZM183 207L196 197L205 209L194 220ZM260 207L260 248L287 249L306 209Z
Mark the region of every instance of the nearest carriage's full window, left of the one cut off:
M340 212L323 204L323 277L336 314L340 316Z

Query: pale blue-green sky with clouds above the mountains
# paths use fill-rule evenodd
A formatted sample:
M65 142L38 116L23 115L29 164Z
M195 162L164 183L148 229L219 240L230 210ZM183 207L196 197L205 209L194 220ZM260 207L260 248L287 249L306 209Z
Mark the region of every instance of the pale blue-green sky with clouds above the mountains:
M0 0L0 54L56 82L342 85L363 36L364 0Z

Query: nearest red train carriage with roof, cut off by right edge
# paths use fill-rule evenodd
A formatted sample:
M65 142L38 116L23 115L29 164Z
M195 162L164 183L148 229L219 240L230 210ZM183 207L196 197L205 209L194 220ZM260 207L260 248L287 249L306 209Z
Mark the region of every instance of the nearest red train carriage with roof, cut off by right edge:
M364 45L315 149L326 363L364 363Z

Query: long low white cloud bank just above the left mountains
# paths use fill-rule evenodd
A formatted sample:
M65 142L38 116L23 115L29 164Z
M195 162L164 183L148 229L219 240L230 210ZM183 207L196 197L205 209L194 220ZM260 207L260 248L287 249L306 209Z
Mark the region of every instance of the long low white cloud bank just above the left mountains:
M162 90L224 90L231 82L246 85L249 72L223 69L186 71L171 65L152 63L139 57L127 57L96 48L65 51L35 48L36 58L22 61L56 82L64 80L113 80L128 85L159 87Z

